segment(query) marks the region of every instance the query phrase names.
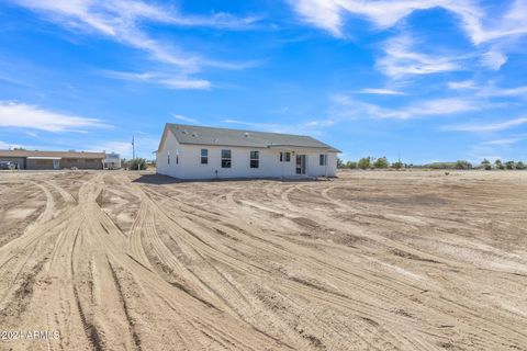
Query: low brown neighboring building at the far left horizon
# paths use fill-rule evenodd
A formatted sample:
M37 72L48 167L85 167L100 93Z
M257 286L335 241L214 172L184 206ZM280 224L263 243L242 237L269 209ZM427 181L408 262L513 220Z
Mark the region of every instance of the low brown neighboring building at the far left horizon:
M0 150L0 161L16 163L16 169L102 169L104 152Z

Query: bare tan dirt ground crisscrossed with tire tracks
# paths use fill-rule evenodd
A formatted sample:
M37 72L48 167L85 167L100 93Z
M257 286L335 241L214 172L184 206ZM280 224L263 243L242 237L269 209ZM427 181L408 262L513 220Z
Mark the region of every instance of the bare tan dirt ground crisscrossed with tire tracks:
M2 172L2 330L59 338L1 350L527 350L527 172Z

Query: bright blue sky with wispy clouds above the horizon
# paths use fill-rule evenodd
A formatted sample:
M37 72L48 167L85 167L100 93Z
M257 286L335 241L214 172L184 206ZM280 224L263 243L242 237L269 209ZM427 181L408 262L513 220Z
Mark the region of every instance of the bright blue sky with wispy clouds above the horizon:
M0 149L137 152L165 123L344 159L527 159L527 0L7 0Z

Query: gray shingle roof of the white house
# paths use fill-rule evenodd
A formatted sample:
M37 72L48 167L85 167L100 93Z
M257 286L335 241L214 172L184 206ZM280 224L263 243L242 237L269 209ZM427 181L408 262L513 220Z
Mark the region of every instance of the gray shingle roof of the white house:
M245 146L245 147L305 147L340 152L336 148L306 135L254 132L167 123L179 144Z

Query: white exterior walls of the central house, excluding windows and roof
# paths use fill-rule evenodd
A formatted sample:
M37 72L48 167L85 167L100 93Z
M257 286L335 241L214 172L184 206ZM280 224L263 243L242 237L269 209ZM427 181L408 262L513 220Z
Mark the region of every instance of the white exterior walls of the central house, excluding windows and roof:
M209 162L201 163L201 149L209 150ZM231 150L231 168L222 168L222 150ZM259 167L250 168L250 151L259 151ZM291 160L280 162L280 151L291 152ZM170 154L170 165L168 165ZM326 154L327 167L319 166L319 155ZM281 178L294 177L295 156L306 155L305 174L310 177L336 176L336 152L312 149L270 149L233 146L180 145L168 133L165 145L157 154L157 172L181 179L214 178ZM217 173L216 173L217 171Z

